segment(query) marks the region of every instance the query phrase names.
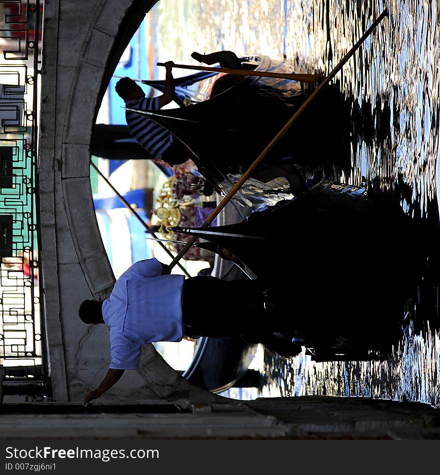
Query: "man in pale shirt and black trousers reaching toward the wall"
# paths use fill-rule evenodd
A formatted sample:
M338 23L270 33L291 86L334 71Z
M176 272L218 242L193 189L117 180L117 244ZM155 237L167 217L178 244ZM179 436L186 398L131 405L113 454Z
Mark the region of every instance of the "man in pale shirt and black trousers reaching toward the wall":
M220 298L219 298L220 297ZM135 262L115 282L110 296L84 300L78 309L87 324L110 328L109 369L84 403L115 384L125 369L139 365L141 347L155 341L239 335L249 329L282 331L257 280L169 274L156 258Z

